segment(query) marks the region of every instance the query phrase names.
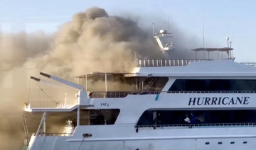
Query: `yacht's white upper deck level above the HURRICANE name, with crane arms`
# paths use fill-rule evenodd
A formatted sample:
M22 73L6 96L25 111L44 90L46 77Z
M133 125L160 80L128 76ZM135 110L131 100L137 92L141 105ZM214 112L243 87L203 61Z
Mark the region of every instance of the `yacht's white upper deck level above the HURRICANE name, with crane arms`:
M78 83L65 81L44 73L41 73L41 75L78 89L81 91L81 94L83 94L82 97L88 99L125 98L129 95L158 95L160 93L255 93L255 90L247 88L244 90L238 90L236 88L233 90L229 88L212 90L209 88L197 91L191 90L190 88L184 88L178 91L169 89L176 80L182 80L184 83L186 80L198 82L200 80L200 82L204 81L207 83L210 80L225 80L227 81L227 85L231 85L231 82L233 83L231 80L255 80L256 68L252 67L255 66L255 63L246 64L247 65L240 64L232 60L137 59L137 66L139 67L135 68L130 73L97 72L85 74L78 76ZM41 79L34 77L31 77L31 79L41 81ZM76 98L79 102L81 95ZM72 108L68 109L72 110ZM61 109L57 109L57 111L58 110L63 111Z

